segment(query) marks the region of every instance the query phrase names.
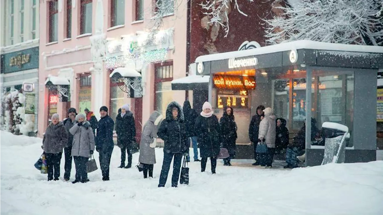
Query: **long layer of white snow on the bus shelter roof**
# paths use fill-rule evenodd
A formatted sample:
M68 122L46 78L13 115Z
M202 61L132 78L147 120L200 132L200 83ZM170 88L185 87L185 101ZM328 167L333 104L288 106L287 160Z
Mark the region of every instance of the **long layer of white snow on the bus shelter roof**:
M197 57L195 62L207 62L214 60L232 59L238 57L247 57L252 55L269 54L275 52L284 52L298 49L314 49L314 50L329 50L329 51L344 51L344 52L365 52L365 53L383 53L381 46L362 46L337 44L328 42L317 42L311 40L297 40L293 42L284 42L271 46L263 46L256 49L240 50L233 52L224 52L218 54L202 55Z

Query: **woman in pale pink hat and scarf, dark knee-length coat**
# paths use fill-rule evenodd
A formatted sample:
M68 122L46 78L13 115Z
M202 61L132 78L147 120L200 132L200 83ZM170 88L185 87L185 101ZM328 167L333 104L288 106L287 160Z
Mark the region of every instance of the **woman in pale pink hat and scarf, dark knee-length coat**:
M195 122L195 132L200 143L201 172L205 172L206 163L210 158L211 173L216 173L217 156L222 143L221 127L211 104L207 101L202 106L202 112Z

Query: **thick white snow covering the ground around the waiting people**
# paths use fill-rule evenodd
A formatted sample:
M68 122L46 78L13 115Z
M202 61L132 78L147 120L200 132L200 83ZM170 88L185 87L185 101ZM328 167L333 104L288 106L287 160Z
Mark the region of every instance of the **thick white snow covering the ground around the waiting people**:
M90 182L72 184L48 182L46 174L34 168L40 146L40 138L0 131L0 214L380 215L383 211L383 161L291 171L254 168L249 161L234 161L228 167L220 161L215 175L201 173L200 163L191 162L190 185L170 187L169 174L167 186L158 188L160 148L154 179L143 179L136 168L117 168L120 150L115 147L110 181L103 182L97 170L88 174ZM138 153L133 164L137 160ZM63 173L64 158L61 179ZM71 180L74 174L73 165Z

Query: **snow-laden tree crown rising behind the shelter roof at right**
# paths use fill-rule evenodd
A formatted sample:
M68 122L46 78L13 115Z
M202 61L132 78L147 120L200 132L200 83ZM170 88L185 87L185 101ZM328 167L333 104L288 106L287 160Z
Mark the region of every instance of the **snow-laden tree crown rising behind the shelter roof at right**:
M313 41L382 45L381 3L376 0L300 0L278 7L282 14L266 20L267 42Z

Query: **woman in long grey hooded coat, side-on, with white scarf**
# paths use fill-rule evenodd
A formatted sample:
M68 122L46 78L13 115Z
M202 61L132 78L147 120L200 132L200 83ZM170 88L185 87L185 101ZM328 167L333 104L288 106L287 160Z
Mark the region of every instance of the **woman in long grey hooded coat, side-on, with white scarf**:
M155 164L155 138L157 138L157 131L162 120L162 114L158 111L150 114L149 120L145 123L140 142L140 156L139 163L144 168L144 178L147 178L149 170L149 177L153 177L153 166Z

